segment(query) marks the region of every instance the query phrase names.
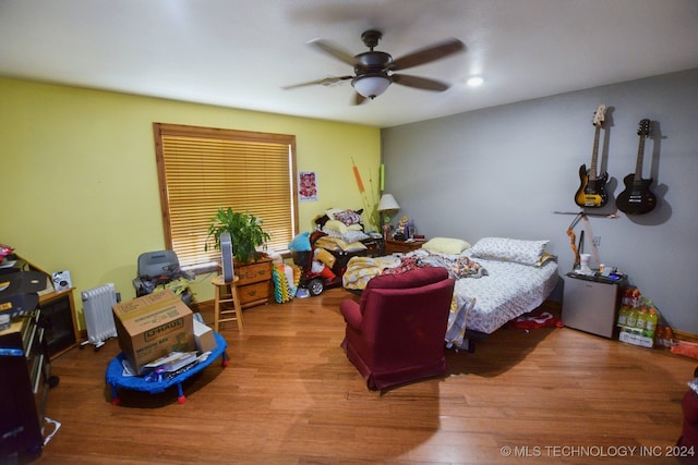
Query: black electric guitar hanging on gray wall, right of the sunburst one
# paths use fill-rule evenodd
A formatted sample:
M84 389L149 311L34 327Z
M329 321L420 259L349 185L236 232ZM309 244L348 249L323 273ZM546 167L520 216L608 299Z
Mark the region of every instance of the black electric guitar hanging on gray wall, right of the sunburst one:
M615 200L618 209L628 215L645 215L654 209L657 205L657 197L650 192L650 184L652 179L642 179L642 156L645 154L645 139L650 134L650 120L641 120L637 130L637 135L640 136L640 144L637 149L637 164L635 167L635 173L630 173L623 182L625 183L625 191L618 195Z

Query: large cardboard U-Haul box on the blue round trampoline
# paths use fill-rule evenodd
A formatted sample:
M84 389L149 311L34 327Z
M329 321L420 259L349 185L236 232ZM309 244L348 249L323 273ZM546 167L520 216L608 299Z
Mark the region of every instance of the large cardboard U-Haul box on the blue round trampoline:
M123 302L113 310L119 346L137 374L144 365L170 352L192 352L194 315L172 291Z

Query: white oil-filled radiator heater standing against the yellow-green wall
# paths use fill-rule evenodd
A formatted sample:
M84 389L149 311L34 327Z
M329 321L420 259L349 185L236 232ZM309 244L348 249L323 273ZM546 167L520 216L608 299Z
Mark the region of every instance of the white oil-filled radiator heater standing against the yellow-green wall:
M106 340L117 336L111 307L117 305L117 291L112 283L104 284L82 292L83 313L87 323L87 341L95 344L95 351L101 347Z

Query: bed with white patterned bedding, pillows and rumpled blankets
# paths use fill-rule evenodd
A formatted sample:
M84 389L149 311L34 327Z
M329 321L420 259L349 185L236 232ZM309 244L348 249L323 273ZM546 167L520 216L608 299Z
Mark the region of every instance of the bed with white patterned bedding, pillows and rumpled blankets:
M559 277L555 257L545 252L547 242L484 237L470 247L465 241L438 237L406 255L352 258L344 285L360 290L378 273L413 266L447 268L456 286L446 343L465 348L466 331L491 334L540 306L553 292Z

